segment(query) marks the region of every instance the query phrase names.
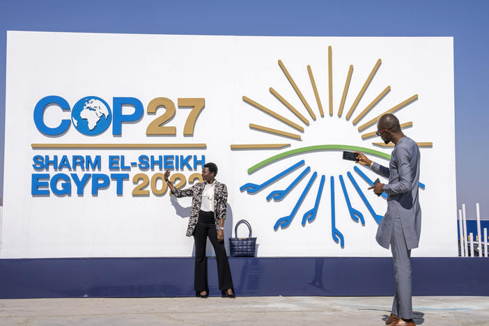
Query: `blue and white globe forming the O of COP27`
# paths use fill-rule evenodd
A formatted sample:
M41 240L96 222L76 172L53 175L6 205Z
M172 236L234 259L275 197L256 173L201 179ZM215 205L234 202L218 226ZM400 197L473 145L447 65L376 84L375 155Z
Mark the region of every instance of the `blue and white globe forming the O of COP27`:
M101 134L112 121L109 104L96 96L81 98L71 110L71 121L75 128L87 136Z

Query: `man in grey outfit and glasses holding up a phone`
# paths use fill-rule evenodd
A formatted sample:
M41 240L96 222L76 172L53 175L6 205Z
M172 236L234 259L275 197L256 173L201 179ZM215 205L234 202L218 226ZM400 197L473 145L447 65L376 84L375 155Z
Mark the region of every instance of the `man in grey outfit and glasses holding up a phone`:
M411 249L417 248L421 233L421 208L418 201L419 148L406 137L393 114L385 114L377 123L376 134L385 143L395 144L389 169L368 160L358 153L357 163L369 166L372 171L389 178L387 185L377 183L368 189L375 194L387 193L387 212L380 223L375 239L392 251L396 294L391 316L386 325L414 326L411 300Z

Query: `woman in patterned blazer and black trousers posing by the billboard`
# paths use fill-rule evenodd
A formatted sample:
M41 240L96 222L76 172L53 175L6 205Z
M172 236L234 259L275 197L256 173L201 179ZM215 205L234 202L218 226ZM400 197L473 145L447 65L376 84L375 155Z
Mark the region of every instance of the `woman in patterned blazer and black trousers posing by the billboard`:
M224 220L226 219L226 203L228 189L224 183L215 180L217 165L207 163L202 169L203 183L197 183L189 189L179 190L169 182L170 171L164 173L164 180L171 193L176 197L192 196L187 237L194 235L195 240L195 275L194 290L200 297L208 297L207 260L205 244L209 238L216 253L219 290L222 297L235 297L233 280L229 269L228 256L224 247Z

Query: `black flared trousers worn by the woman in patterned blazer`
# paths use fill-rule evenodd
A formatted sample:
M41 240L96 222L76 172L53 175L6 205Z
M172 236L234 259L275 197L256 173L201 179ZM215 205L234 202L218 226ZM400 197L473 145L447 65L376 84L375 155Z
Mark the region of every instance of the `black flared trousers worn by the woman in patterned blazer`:
M231 279L231 270L229 269L228 256L224 247L224 240L217 241L217 231L215 224L214 212L199 212L199 222L195 226L195 277L194 290L208 291L207 282L207 257L205 256L205 245L209 238L212 247L216 253L217 277L219 277L219 290L233 288L233 279Z

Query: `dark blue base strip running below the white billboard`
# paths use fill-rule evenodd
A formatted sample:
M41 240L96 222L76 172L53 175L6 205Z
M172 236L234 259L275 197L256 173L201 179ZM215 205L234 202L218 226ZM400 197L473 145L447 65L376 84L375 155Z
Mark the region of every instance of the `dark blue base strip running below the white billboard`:
M229 258L241 296L393 295L391 258ZM209 258L211 295L217 288ZM413 295L489 295L489 258L412 258ZM0 298L193 296L194 258L0 259Z

